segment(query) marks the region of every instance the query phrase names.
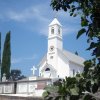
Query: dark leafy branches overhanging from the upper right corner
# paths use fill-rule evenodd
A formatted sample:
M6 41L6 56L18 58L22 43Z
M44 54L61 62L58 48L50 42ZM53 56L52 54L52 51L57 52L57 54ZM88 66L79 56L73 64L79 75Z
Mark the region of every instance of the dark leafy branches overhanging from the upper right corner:
M94 49L92 55L100 63L100 0L51 0L51 6L57 11L69 11L70 16L80 16L83 28L77 38L86 33L89 50Z

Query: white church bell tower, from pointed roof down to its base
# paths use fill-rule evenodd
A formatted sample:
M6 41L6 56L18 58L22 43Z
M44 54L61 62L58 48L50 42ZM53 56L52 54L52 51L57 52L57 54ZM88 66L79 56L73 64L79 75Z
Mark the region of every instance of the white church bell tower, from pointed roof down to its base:
M55 70L55 74L52 75L53 77L58 77L58 50L62 51L62 49L62 25L59 23L57 18L54 18L49 24L47 52L47 63Z

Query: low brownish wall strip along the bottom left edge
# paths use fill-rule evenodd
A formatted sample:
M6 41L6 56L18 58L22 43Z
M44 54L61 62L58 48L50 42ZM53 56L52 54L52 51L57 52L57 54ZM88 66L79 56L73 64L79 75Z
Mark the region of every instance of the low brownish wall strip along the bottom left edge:
M0 95L0 100L43 100L43 99L41 97L19 97L19 96Z

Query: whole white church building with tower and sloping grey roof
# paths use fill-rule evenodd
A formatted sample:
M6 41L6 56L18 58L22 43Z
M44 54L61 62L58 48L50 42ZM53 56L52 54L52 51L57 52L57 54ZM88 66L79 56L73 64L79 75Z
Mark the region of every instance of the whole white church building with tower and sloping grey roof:
M49 24L48 51L41 60L39 76L44 78L65 78L83 71L85 60L63 49L62 25L54 18Z

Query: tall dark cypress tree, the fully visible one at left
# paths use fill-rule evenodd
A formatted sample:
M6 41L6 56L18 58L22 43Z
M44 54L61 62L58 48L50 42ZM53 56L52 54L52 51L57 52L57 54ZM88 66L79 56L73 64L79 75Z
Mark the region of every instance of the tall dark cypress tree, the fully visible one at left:
M10 65L11 65L11 50L10 50L10 31L6 34L4 49L2 55L2 67L1 76L6 74L6 78L9 79L10 75Z

